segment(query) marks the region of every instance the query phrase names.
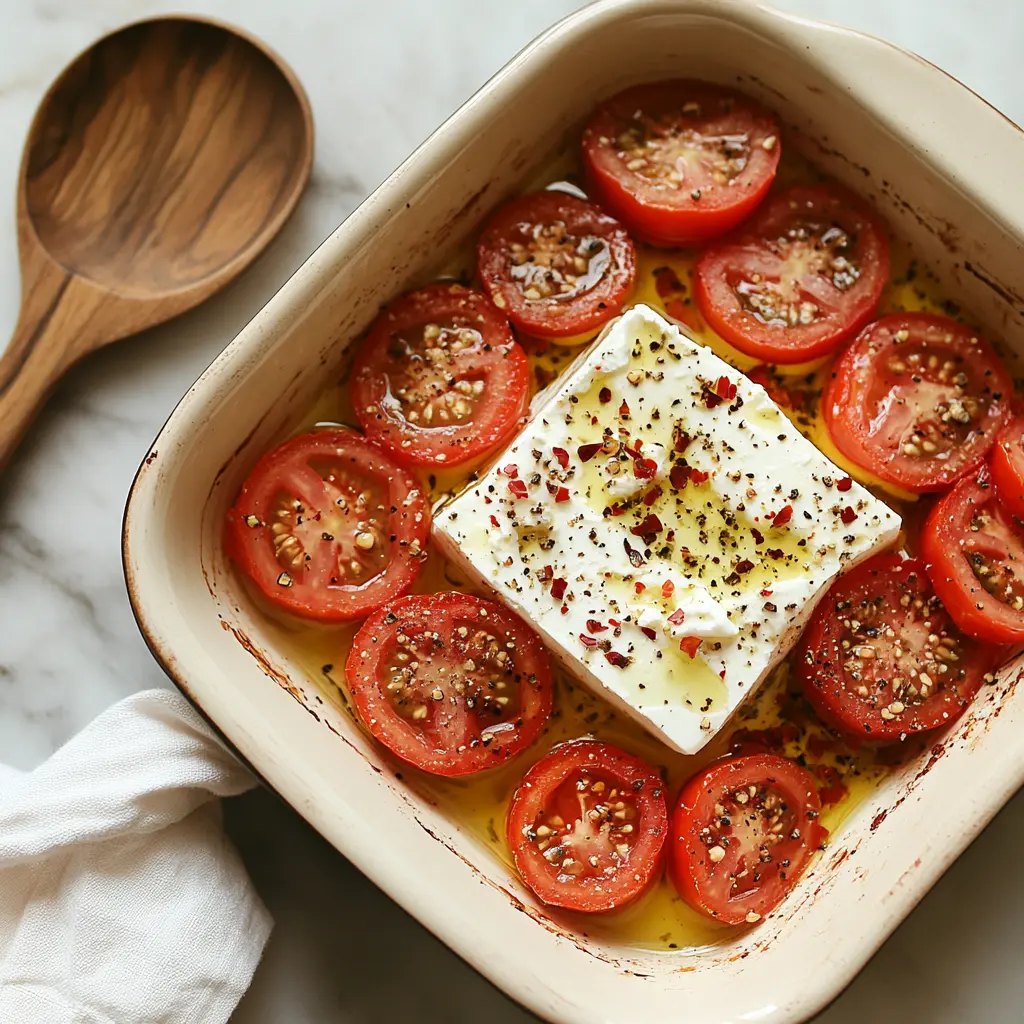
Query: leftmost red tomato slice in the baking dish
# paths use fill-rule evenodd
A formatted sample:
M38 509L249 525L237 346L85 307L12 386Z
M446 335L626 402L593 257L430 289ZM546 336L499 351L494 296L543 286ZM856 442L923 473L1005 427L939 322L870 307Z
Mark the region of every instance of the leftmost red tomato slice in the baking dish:
M224 547L280 608L341 623L412 587L429 531L414 477L352 430L316 430L255 465L227 513Z

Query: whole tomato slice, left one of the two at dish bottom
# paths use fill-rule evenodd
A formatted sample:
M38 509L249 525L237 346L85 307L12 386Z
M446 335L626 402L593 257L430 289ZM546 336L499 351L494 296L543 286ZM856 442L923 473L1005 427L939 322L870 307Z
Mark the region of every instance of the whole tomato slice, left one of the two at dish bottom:
M509 809L508 841L523 882L552 906L598 913L625 906L662 865L669 812L648 764L575 739L526 773Z

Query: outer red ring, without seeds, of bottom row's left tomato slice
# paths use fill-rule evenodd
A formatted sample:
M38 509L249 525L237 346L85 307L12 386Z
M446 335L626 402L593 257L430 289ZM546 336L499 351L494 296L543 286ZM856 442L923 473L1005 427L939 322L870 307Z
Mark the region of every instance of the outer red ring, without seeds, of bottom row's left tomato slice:
M559 786L581 769L622 785L623 796L636 805L636 840L626 864L610 878L559 882L558 868L545 859L531 830ZM516 869L539 899L566 910L602 913L633 902L657 877L668 825L665 784L650 765L609 743L573 739L556 746L523 777L509 808L507 838Z

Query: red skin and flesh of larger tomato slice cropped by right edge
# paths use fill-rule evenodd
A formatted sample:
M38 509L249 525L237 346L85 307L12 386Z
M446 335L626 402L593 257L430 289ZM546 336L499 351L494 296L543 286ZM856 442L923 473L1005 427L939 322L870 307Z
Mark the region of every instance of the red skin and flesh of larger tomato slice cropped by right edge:
M921 550L935 592L968 636L990 644L1019 644L1024 643L1024 608L1014 609L985 590L968 553L995 554L987 530L972 529L972 520L979 513L1001 519L1000 502L987 468L961 480L929 513ZM1000 525L1009 543L998 545L1002 549L998 554L1006 553L1017 563L1015 575L1020 580L1024 577L1024 527L1012 521Z

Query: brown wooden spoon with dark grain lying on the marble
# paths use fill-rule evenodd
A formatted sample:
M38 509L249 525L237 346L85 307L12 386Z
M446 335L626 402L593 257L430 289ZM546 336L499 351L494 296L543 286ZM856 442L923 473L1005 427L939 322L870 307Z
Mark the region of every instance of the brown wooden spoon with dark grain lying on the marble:
M190 309L252 262L295 208L312 144L291 70L222 25L130 25L65 70L22 159L0 466L72 364Z

